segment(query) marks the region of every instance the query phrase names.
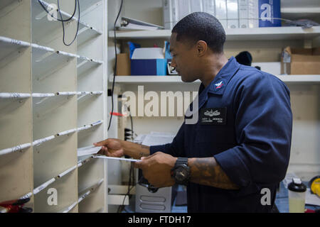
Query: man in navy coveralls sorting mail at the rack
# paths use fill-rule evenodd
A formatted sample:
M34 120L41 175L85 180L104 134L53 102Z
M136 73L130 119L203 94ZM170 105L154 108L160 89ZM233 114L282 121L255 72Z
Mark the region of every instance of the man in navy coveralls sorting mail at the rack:
M141 158L135 167L154 187L175 184L172 169L186 159L188 212L270 212L289 164L289 89L277 77L223 53L225 31L208 13L191 13L171 35L171 65L183 82L201 80L198 114L172 143L144 146L107 139L101 154ZM217 116L217 117L216 117ZM270 201L263 202L265 190Z

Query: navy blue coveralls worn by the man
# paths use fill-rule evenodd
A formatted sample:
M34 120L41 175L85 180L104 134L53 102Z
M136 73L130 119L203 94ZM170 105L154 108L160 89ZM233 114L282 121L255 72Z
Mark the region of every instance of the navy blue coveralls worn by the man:
M194 114L197 123L186 124L185 117L173 142L151 146L150 154L215 157L240 189L190 182L188 212L269 212L291 148L292 111L284 82L231 57L208 87L201 84ZM262 203L265 188L270 205Z

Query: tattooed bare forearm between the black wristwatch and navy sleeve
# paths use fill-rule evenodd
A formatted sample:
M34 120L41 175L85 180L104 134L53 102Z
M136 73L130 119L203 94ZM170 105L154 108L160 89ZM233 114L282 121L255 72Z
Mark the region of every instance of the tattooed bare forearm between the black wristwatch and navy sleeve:
M221 189L239 189L236 184L231 182L214 157L191 158L189 160L191 182Z

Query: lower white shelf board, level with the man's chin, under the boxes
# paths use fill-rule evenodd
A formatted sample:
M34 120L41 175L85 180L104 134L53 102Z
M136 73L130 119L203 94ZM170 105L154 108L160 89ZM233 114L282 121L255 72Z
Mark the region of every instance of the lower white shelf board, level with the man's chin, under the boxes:
M320 83L319 75L278 75L285 83ZM109 77L112 82L113 77ZM147 83L183 83L180 76L116 76L115 82L119 84L147 84ZM200 84L200 80L196 80L193 84Z

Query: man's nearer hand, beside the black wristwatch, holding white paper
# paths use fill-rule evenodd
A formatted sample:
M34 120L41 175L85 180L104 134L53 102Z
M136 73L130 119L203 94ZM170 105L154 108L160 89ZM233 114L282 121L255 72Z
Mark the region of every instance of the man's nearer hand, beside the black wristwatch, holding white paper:
M175 184L171 177L171 169L177 157L157 152L148 157L142 157L140 162L135 162L134 167L142 170L144 178L154 187L171 187Z

